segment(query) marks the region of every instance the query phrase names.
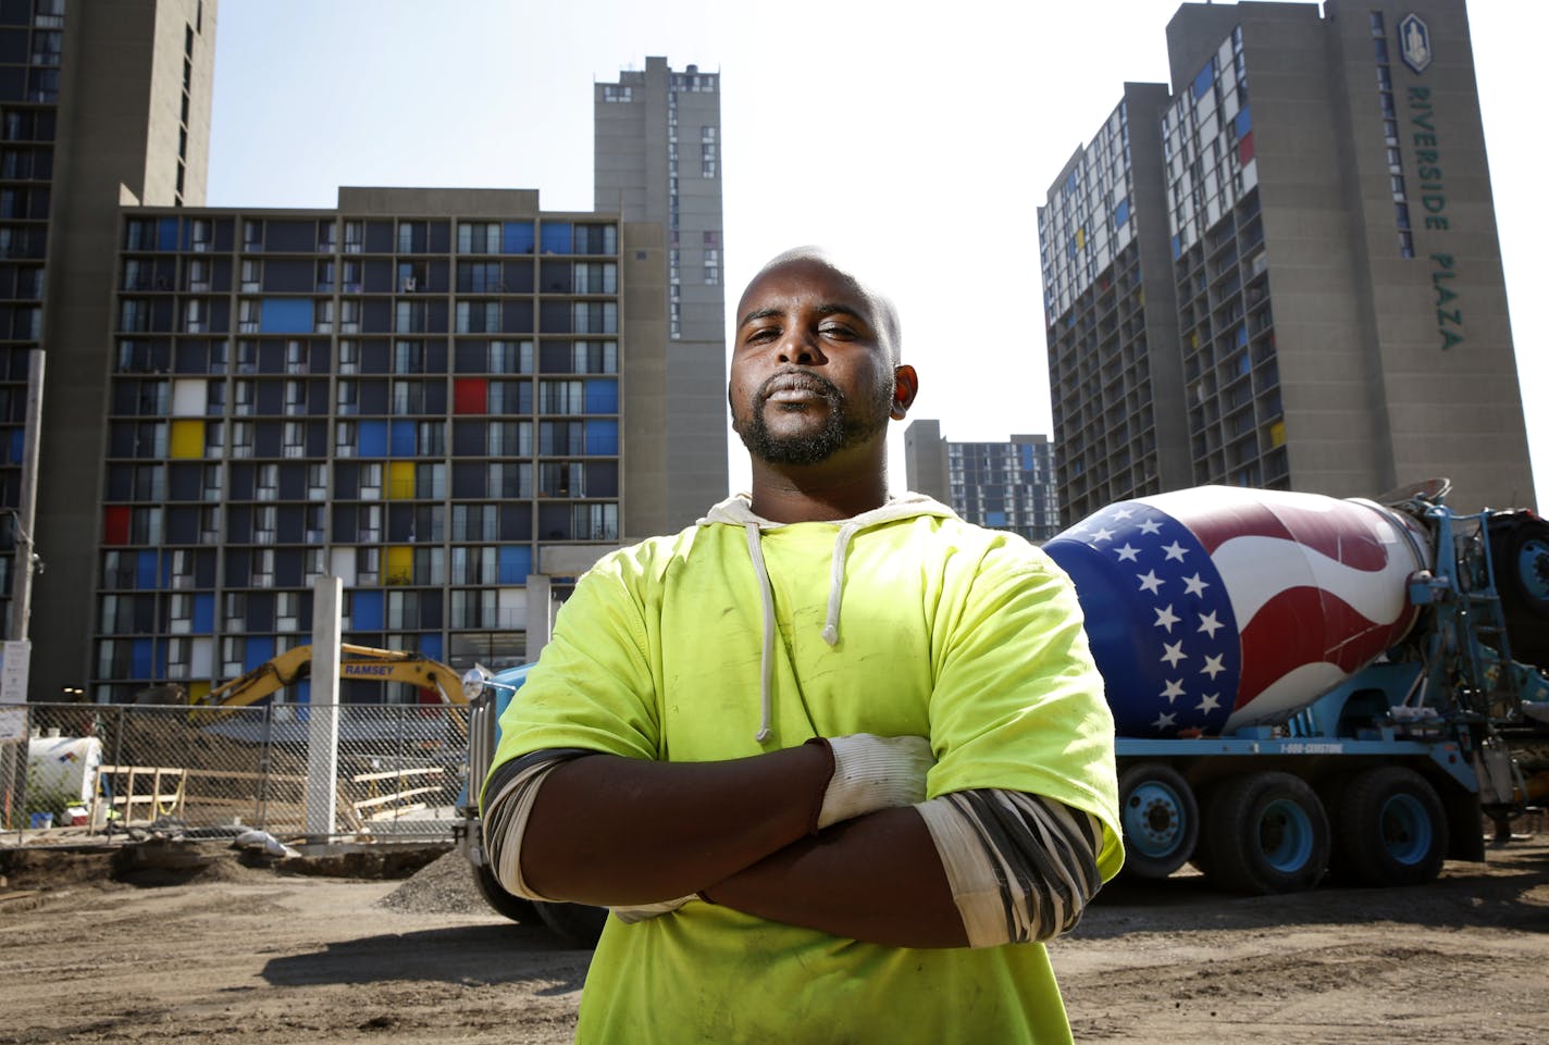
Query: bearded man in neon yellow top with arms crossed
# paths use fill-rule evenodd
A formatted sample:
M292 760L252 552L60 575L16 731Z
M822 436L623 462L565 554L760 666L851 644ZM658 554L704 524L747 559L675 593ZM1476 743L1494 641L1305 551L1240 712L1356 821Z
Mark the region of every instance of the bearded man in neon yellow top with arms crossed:
M483 791L517 895L607 906L578 1042L1066 1042L1044 952L1123 861L1069 579L889 499L919 379L815 249L737 307L751 495L603 559Z

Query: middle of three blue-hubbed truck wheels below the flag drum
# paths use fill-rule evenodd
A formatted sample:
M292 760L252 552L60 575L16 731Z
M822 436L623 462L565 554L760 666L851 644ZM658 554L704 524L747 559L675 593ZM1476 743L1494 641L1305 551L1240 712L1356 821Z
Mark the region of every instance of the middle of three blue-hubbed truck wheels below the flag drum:
M1208 876L1221 889L1267 895L1312 889L1329 865L1329 817L1289 773L1225 780L1214 796Z

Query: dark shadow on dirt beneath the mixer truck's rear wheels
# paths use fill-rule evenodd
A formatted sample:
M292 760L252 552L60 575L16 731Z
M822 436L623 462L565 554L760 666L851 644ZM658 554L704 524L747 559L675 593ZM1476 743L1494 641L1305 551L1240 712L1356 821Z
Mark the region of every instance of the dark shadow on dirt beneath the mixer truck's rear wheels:
M1103 940L1132 932L1208 932L1289 926L1400 923L1439 929L1506 927L1549 935L1549 844L1492 851L1487 864L1450 862L1427 886L1323 886L1286 896L1211 889L1204 876L1109 882L1072 935Z

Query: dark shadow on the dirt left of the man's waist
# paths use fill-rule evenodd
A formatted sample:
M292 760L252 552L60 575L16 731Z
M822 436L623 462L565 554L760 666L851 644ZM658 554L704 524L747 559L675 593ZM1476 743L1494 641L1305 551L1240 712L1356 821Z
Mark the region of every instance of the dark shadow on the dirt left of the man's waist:
M273 958L263 978L274 986L322 983L384 983L390 980L440 980L445 983L499 985L553 982L538 994L568 994L581 989L590 951L561 951L564 944L536 926L455 926L420 932L384 934L327 944L313 954ZM524 963L520 955L542 957Z

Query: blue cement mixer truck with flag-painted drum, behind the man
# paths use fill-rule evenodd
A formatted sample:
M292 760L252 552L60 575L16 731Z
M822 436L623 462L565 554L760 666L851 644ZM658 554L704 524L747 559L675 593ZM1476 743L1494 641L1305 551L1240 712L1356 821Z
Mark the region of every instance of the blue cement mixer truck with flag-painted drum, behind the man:
M1126 873L1247 893L1431 881L1549 794L1549 523L1202 486L1109 505L1044 550L1114 711ZM525 667L472 700L469 780ZM463 851L496 910L531 907ZM539 906L576 943L601 912Z

